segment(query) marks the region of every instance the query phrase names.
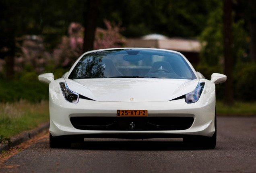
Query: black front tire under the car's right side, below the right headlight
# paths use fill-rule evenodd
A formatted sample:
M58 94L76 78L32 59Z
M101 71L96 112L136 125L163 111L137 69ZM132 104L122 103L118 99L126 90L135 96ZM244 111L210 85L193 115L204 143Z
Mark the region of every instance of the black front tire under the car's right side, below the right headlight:
M184 143L188 143L192 145L192 147L198 147L203 149L215 149L216 147L216 139L217 139L217 118L216 118L216 110L215 110L215 118L214 118L214 127L215 133L212 137L204 137L204 136L191 136L184 137Z

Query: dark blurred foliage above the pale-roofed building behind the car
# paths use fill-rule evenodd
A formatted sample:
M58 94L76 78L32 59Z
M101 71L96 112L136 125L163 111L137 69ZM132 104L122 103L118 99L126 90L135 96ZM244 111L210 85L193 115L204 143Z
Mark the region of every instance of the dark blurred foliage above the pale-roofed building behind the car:
M138 37L159 33L166 36L195 37L206 26L208 13L216 0L129 0L101 1L99 21L103 18L126 28L122 34ZM100 27L103 27L102 23Z

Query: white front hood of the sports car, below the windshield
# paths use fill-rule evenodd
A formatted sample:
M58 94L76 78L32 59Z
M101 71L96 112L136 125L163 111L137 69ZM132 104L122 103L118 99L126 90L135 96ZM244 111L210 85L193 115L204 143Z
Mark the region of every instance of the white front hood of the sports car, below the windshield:
M65 79L68 88L95 101L170 101L196 89L199 79L93 78Z

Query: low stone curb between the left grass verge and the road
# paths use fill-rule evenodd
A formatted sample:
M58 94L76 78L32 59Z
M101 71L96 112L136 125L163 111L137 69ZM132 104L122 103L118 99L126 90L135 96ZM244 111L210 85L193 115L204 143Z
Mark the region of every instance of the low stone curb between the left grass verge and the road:
M0 144L0 151L7 151L11 147L15 147L15 146L31 139L35 135L42 133L43 131L49 129L49 127L50 127L50 123L43 123L43 124L39 125L39 127L35 128L31 131L25 131L25 132L20 133L19 135L10 137L11 141L12 141L11 145L9 146L8 143Z

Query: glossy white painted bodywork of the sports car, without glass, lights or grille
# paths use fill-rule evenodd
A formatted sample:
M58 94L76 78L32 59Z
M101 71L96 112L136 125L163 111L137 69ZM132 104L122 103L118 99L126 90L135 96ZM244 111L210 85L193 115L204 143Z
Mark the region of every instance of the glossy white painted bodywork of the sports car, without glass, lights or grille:
M186 58L185 60L188 62ZM64 75L65 78L50 82L50 133L54 137L61 135L155 133L211 137L215 133L214 81L218 77L213 82L200 78L192 65L189 62L188 64L197 79L92 78L71 80L66 78L70 74L68 72ZM70 71L73 68L74 66ZM92 100L80 99L76 104L67 102L60 89L60 82L66 82L71 91ZM187 104L184 99L173 100L194 91L198 82L205 82L198 101ZM194 117L194 123L189 129L175 131L96 131L75 129L70 122L70 117L79 116L116 117L118 109L148 110L148 117Z

